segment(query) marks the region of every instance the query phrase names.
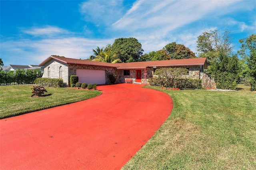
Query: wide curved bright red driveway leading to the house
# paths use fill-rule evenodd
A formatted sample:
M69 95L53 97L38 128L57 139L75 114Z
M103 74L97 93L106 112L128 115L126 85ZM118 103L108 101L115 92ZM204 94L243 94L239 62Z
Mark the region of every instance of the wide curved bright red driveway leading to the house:
M99 86L102 95L0 120L0 169L120 169L172 111L142 85Z

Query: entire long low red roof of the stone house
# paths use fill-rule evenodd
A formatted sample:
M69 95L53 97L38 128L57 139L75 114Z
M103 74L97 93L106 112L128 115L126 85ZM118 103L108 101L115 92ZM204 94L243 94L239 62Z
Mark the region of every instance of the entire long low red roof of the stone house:
M172 60L160 60L160 61L141 61L132 63L105 63L98 61L90 61L84 59L73 59L60 56L50 56L39 65L56 59L66 64L82 64L82 65L96 65L106 67L116 67L117 69L143 69L148 67L175 67L175 66L190 66L190 65L204 65L207 68L206 58L190 58L190 59L172 59Z

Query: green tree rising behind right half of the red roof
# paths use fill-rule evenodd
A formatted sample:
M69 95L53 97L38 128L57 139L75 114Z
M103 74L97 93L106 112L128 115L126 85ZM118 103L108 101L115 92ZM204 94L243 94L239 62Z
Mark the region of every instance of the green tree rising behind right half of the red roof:
M163 48L171 59L187 59L195 58L195 53L183 44L176 44L176 42L168 43Z

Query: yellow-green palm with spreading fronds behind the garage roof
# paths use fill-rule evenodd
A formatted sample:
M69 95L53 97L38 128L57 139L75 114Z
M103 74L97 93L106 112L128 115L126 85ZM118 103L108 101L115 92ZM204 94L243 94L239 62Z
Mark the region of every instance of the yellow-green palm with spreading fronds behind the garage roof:
M122 63L120 59L117 59L116 54L112 55L111 51L100 52L92 61L106 62L106 63Z

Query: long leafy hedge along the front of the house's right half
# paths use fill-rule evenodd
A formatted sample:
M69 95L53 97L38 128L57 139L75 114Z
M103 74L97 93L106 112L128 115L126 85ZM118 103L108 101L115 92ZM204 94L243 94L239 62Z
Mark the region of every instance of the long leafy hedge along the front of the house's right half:
M174 83L171 84L167 79L157 76L157 77L149 78L148 83L150 85L166 87L166 88L178 87L179 89L202 89L201 79L179 78L179 79L174 79Z

